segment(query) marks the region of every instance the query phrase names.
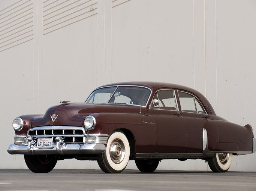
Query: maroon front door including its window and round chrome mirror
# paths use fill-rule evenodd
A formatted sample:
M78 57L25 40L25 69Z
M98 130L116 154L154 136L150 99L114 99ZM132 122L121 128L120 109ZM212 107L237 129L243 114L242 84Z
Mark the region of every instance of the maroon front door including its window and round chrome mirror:
M174 90L159 90L154 95L159 105L150 106L157 128L157 153L186 153L186 120L178 109Z

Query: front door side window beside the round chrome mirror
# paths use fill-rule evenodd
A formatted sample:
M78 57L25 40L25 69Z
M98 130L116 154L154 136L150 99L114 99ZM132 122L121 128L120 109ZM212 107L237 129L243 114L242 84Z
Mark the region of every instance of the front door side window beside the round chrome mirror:
M158 106L151 104L151 109L177 110L174 90L159 90L153 99L159 101Z

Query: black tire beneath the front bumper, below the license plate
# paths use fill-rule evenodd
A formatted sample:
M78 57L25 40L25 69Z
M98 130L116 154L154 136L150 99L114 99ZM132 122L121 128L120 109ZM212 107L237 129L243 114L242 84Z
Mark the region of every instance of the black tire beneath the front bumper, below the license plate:
M55 167L57 160L47 155L24 155L28 169L34 173L48 173Z

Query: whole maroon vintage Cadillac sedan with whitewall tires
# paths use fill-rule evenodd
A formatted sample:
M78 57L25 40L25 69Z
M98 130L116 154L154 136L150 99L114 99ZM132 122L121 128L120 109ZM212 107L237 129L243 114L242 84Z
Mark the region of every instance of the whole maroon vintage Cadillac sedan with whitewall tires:
M129 160L153 172L163 159L202 159L226 172L233 155L256 150L252 126L228 122L198 91L168 83L103 85L85 103L60 101L44 115L19 116L13 129L7 151L23 154L35 173L72 158L97 160L106 173L122 172Z

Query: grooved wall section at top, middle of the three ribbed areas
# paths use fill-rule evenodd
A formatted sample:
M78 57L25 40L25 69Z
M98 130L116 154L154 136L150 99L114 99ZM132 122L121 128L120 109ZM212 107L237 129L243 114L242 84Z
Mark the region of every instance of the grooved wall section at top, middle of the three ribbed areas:
M96 15L97 0L49 0L43 3L43 34Z

